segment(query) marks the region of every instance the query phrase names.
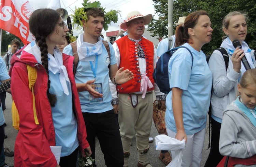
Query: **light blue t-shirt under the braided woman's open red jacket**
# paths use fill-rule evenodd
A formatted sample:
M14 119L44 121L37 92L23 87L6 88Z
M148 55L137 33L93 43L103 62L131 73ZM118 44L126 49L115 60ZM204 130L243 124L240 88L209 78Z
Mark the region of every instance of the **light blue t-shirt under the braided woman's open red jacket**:
M53 124L55 130L56 146L61 147L61 155L70 155L78 146L77 122L72 108L72 91L67 82L69 95L63 92L59 81L59 73L53 74L49 71L51 85L49 92L57 96L57 102L52 109Z

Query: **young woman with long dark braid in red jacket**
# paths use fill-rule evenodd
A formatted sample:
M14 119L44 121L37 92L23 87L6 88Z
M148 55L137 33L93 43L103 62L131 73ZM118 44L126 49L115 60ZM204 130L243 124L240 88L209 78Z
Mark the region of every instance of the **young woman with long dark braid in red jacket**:
M69 29L59 13L48 8L31 14L29 29L35 41L11 61L11 90L20 118L14 165L76 166L78 151L90 155L91 150L73 76L73 57L56 47L65 43ZM37 71L33 92L27 65ZM59 165L50 146L61 146Z

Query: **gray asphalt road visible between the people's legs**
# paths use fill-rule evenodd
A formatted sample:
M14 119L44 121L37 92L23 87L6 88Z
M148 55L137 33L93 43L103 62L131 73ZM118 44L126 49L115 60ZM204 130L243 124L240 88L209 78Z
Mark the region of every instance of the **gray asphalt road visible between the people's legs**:
M24 102L26 103L26 102ZM7 126L5 127L5 134L8 135L8 138L6 138L4 140L4 147L8 147L10 150L14 150L14 143L15 143L15 139L16 139L16 135L17 135L17 131L12 127L12 114L11 114L11 105L12 105L12 101L11 101L11 95L9 93L7 93L6 95L6 110L4 111L4 117L6 120L6 124ZM208 134L209 134L209 126L207 125L207 129L206 129L206 134L205 134L205 142L204 142L204 149L203 149L203 155L202 155L202 161L201 161L201 167L204 166L204 163L207 159L207 156L209 154L209 150L207 150L207 146L208 146ZM155 137L157 136L157 130L155 128L155 125L152 124L152 128L151 128L151 136ZM97 141L97 147L96 147L96 163L98 167L105 167L105 162L104 162L104 158L103 158L103 154L100 150L100 146L99 146L99 141ZM151 149L148 152L148 160L150 162L150 164L153 167L165 167L165 165L161 162L161 160L158 159L158 156L160 154L160 151L155 150L155 141L153 143L149 144ZM113 148L115 149L115 148ZM131 151L130 151L131 155L130 155L130 159L129 159L129 166L130 167L137 167L137 163L138 163L138 155L137 155L137 148L136 148L136 139L133 138L132 140L132 146L131 146ZM6 157L5 158L5 163L7 163L8 165L13 165L14 164L14 158L13 157Z

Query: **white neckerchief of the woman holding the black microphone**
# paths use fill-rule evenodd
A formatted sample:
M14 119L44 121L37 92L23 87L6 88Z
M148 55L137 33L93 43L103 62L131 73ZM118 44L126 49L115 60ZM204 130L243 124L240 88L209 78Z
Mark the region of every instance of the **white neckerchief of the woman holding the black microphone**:
M229 37L223 40L223 42L221 44L221 47L227 49L228 54L230 54L231 56L234 53L235 48L233 47L233 44L232 44L231 40L229 39ZM244 41L242 42L242 49L244 50L245 57L246 57L248 63L250 64L250 67L254 68L253 60L252 60L252 57L251 57L251 54L250 54L251 49L249 48L247 43L245 43ZM241 73L243 74L245 71L246 70L245 70L244 65L241 61Z

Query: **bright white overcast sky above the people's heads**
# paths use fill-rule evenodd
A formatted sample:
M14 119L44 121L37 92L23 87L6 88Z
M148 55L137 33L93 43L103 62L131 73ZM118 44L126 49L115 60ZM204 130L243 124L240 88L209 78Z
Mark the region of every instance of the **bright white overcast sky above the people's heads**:
M44 8L47 7L48 3L51 0L28 0L31 4L32 7L34 7L34 9L38 9L38 8ZM91 2L94 2L95 0L91 0ZM120 16L118 17L119 20L117 23L113 23L111 22L111 25L109 25L109 31L115 31L115 30L119 30L118 25L126 19L126 16L129 12L131 11L139 11L142 15L147 15L147 14L152 14L152 15L156 15L154 13L154 3L152 0L97 0L100 1L101 6L105 7L105 11L108 12L112 9L114 10L119 10L120 15L122 18L120 18ZM60 0L60 4L62 8L66 8L66 10L68 11L68 13L71 13L71 10L75 10L75 6L76 7L82 7L82 3L84 1L83 0ZM167 5L166 5L167 7ZM157 18L157 16L155 17ZM102 34L104 35L104 37L106 37L106 33L103 30Z

